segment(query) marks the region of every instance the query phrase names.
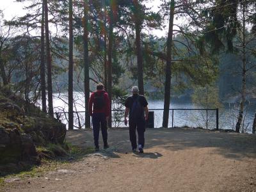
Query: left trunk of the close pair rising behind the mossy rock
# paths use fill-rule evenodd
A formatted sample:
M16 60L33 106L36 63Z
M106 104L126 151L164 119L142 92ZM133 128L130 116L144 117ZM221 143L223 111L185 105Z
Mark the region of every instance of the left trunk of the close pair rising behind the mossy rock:
M41 21L41 63L40 63L40 79L41 79L41 95L42 110L46 113L46 86L45 86L45 52L44 52L44 1L42 3L42 21Z

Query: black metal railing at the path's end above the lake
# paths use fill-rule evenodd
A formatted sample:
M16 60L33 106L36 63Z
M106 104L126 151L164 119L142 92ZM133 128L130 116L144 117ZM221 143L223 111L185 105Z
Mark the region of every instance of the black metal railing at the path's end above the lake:
M155 128L162 127L164 109L148 109L154 111ZM112 127L127 127L124 125L124 109L113 109ZM169 109L168 127L202 127L204 129L219 129L219 109ZM177 111L177 112L175 112ZM63 124L68 123L67 111L54 112ZM85 111L74 111L74 127L81 129L84 127ZM92 127L92 122L90 122Z

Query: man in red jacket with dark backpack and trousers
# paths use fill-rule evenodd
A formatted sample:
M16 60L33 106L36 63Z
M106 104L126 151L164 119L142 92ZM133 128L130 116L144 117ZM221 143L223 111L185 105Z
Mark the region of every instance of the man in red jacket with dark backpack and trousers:
M108 93L103 88L104 86L102 83L97 84L97 91L92 93L89 100L89 112L92 116L95 151L99 151L100 127L104 143L104 149L109 147L107 120L110 113L110 106Z

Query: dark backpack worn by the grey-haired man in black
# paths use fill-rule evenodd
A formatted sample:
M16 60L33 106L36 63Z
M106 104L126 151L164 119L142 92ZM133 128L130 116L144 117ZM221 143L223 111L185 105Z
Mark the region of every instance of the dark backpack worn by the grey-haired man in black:
M129 120L131 120L131 121L143 119L144 109L140 103L140 95L138 95L138 97L136 97L136 99L134 99L129 115L130 115Z

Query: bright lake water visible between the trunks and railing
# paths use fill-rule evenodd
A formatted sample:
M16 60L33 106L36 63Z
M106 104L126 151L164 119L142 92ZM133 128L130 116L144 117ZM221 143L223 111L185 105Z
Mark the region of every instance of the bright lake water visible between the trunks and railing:
M54 112L68 111L67 104L67 93L54 94ZM74 111L81 111L81 113L74 114L74 124L76 128L84 127L84 94L75 92L74 93ZM119 106L120 107L120 106ZM148 100L149 109L163 109L163 100ZM219 109L219 128L220 129L235 129L236 120L238 115L238 105L230 104L225 106L223 109ZM124 109L123 106L121 106ZM169 124L168 127L203 127L204 129L215 129L216 128L216 110L212 111L190 111L186 109L197 109L194 104L189 102L184 103L171 103L171 109L183 109L173 111L173 122L172 122L172 110L170 110ZM152 111L152 110L151 110ZM163 110L153 110L154 111L154 127L162 127L163 122ZM244 110L243 119L243 132L252 132L252 124L254 118L255 108L246 107ZM67 113L61 113L61 122L67 124ZM114 111L113 112L113 127L125 127L124 125L124 111Z

